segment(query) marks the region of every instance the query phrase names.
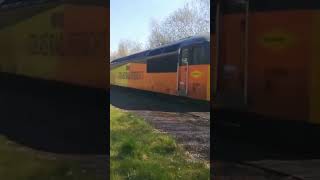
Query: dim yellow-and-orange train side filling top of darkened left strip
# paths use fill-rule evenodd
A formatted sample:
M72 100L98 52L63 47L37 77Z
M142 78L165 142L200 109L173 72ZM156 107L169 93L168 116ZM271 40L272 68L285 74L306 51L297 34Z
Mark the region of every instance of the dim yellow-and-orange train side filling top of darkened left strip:
M1 12L15 12L20 17L25 11L39 9L0 27L1 72L107 88L109 9L90 4L52 4Z

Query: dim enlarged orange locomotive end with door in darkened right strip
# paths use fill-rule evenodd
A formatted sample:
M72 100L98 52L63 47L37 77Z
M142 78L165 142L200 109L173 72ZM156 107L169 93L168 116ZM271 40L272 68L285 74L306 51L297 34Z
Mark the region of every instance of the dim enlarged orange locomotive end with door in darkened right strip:
M320 124L320 2L215 2L213 110Z

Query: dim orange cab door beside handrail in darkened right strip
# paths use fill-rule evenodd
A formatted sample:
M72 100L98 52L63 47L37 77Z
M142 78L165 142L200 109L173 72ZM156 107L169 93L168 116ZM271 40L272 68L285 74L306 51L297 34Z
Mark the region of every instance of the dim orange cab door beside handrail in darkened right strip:
M220 6L216 102L242 107L247 105L249 4L226 0Z

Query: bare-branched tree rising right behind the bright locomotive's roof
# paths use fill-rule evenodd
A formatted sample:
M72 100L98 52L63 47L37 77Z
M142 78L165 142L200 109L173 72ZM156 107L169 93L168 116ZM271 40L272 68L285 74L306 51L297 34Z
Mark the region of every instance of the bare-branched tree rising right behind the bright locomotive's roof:
M187 2L163 21L153 19L150 25L149 48L208 33L210 32L210 0Z

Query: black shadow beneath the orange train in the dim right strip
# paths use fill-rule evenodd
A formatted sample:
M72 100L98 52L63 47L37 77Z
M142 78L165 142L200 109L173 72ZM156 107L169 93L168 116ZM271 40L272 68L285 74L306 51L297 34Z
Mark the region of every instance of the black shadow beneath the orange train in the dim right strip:
M241 120L237 123L240 126L223 126L221 122L230 118ZM217 123L217 119L220 124ZM250 116L242 115L215 117L213 121L216 122L211 134L215 160L300 161L320 159L320 129L318 127L294 122L280 123L273 119L252 119Z

